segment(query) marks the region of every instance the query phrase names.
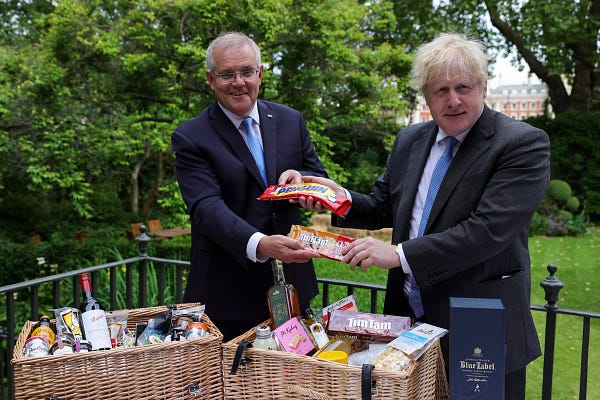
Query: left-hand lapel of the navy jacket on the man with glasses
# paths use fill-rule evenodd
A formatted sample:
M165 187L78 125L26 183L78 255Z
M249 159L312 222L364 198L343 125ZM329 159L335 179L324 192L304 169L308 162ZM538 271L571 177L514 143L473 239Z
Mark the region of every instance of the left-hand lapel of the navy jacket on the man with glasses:
M254 157L252 156L248 145L246 145L246 142L244 142L240 131L236 126L233 125L231 120L227 118L227 115L225 115L217 103L213 103L212 108L209 111L209 117L215 132L217 132L217 134L229 144L233 153L237 156L237 158L240 159L246 168L248 168L252 176L254 176L258 183L264 188L265 184L260 176L260 171L256 166L256 161L254 161ZM266 158L267 156L265 154L265 159Z

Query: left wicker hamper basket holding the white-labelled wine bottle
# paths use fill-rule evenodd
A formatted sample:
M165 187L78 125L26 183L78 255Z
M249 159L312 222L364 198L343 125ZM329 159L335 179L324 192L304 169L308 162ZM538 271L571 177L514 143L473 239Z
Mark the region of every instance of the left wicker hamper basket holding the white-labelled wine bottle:
M178 308L198 305L180 304ZM163 313L167 307L129 310L127 326ZM27 321L14 348L15 399L59 400L223 399L223 335L205 314L211 335L128 349L24 357L23 345L35 321Z

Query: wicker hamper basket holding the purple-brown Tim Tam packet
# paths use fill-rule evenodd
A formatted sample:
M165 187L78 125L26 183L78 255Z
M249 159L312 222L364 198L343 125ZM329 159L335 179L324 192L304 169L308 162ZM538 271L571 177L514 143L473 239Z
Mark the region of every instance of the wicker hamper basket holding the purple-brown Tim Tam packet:
M239 343L252 342L255 331L223 343L224 388L227 400L238 399L414 399L449 397L439 341L418 362L402 372L373 369L368 395L361 390L363 369L283 351L248 347L232 373ZM238 363L235 363L238 364Z

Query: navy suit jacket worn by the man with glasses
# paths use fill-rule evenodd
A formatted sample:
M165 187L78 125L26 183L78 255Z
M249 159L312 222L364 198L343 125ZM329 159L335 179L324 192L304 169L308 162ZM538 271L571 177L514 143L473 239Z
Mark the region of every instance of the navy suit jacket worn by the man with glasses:
M302 115L289 107L258 101L265 166L270 185L287 169L326 176ZM237 128L217 103L182 123L172 134L177 180L192 222L191 269L185 301L206 304L213 319L268 318L270 264L246 258L255 232L287 235L302 224L299 206L259 201L265 184ZM285 266L286 280L308 305L318 293L312 263Z

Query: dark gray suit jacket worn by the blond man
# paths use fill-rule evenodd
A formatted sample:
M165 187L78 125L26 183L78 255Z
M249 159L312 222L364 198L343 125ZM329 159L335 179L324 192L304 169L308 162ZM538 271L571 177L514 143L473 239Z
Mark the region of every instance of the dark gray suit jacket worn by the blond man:
M431 121L398 133L385 172L339 226L393 227L421 288L427 322L449 329L450 297L499 298L506 308L506 372L541 354L531 317L529 223L550 176L550 143L540 129L485 107L458 149L423 237L408 240L413 203L438 132ZM389 271L384 312L406 314L402 268ZM447 343L442 343L448 355Z

